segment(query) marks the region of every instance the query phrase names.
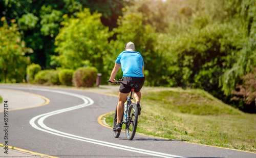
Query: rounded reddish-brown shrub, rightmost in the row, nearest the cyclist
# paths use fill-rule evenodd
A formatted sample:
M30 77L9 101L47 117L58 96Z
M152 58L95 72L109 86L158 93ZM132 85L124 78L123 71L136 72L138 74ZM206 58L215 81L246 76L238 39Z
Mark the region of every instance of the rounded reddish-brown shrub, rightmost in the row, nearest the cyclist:
M95 67L80 67L73 74L76 87L92 87L97 79L98 70Z

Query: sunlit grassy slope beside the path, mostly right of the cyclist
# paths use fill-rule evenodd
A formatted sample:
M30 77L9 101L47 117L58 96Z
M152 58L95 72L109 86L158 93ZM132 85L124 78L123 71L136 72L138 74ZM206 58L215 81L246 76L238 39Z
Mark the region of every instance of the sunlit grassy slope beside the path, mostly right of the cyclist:
M245 114L199 89L142 92L137 132L167 139L256 152L256 115ZM106 116L112 126L113 114Z

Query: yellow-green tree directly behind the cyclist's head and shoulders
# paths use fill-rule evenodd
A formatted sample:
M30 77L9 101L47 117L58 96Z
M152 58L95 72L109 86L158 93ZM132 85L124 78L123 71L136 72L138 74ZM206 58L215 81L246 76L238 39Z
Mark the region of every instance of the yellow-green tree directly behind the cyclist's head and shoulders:
M159 85L163 75L162 65L165 62L161 52L158 53L155 49L157 44L155 29L149 24L143 25L142 13L124 13L124 16L118 20L118 25L119 27L114 29L117 40L112 41L114 54L112 58L116 58L124 51L126 42L134 42L136 51L142 55L144 60L145 85ZM120 74L117 77L121 77Z

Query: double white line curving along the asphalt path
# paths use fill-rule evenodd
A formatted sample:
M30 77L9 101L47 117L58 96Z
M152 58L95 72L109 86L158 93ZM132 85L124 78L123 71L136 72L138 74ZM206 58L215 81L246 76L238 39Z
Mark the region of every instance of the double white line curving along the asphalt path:
M12 88L12 87L11 87ZM23 87L15 87L15 89L28 89L28 88L23 88ZM88 143L93 143L93 144L97 144L97 145L102 145L102 146L107 146L107 147L111 147L111 148L116 148L116 149L121 149L121 150L126 150L126 151L132 151L132 152L137 152L137 153L142 153L142 154L147 154L147 155L153 155L153 156L158 156L158 157L179 157L179 158L186 158L186 157L182 157L182 156L177 156L177 155L172 155L172 154L166 154L166 153L161 153L161 152L156 152L156 151L150 151L150 150L144 150L144 149L138 149L138 148L134 148L134 147L130 147L130 146L125 146L125 145L120 145L120 144L114 144L114 143L109 143L109 142L104 142L104 141L99 141L99 140L94 140L94 139L90 139L90 138L84 138L84 137L80 137L80 136L75 136L73 134L69 134L69 133L65 133L65 132L61 132L55 129L52 129L48 126L46 126L44 124L44 120L50 116L53 115L57 115L60 114L62 112L67 112L67 111L71 111L71 110L75 110L78 108L82 108L82 107L86 107L86 106L90 106L94 103L94 101L86 96L83 95L78 95L78 94L73 94L73 93L69 93L69 92L63 92L63 91L56 91L53 89L44 89L44 88L33 88L33 90L35 91L46 91L46 92L53 92L53 93L59 93L59 94L64 94L64 95L69 95L69 96L74 96L77 98L80 98L84 101L83 104L80 105L76 105L73 107L69 107L69 108L63 108L60 110L55 110L52 112L48 112L46 114L41 114L38 115L34 118L32 118L29 123L32 127L34 127L35 129L47 132L47 133L51 133L54 134L56 136L60 136L60 137L65 137L65 138L70 138L73 140L78 140L78 141L83 141L83 142L88 142ZM38 127L36 125L36 120L37 120L37 124L41 127Z

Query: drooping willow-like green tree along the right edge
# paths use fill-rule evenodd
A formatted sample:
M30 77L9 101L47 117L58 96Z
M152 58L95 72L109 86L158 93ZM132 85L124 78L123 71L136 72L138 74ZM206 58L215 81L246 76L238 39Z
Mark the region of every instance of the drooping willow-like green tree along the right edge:
M236 18L234 25L242 26L240 33L244 37L236 62L220 79L220 86L225 95L230 95L242 81L241 77L253 72L256 67L256 3L251 0L234 1L229 7L232 11L230 14Z

